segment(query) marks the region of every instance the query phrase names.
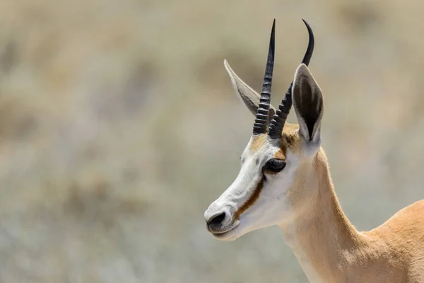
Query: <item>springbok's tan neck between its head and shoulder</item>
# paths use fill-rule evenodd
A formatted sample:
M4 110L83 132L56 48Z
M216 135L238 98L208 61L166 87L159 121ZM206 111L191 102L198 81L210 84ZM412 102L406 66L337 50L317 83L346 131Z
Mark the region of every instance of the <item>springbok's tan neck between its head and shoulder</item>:
M310 282L344 282L348 262L360 254L365 239L343 214L324 153L314 163L318 175L307 187L314 197L302 209L293 204L295 216L281 229Z

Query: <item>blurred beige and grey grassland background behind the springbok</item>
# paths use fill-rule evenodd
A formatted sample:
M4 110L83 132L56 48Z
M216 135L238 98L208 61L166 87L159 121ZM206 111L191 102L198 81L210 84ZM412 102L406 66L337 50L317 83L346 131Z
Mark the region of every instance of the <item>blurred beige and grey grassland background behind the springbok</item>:
M307 282L278 227L220 242L276 18L273 105L307 46L360 230L424 198L424 1L0 1L0 282ZM290 115L290 122L295 122Z

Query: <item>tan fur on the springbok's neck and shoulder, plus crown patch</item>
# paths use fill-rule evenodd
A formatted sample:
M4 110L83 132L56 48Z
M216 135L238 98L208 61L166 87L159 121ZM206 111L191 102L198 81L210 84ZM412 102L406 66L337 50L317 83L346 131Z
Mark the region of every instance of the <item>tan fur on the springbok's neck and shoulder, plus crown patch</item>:
M357 231L338 203L324 151L302 158L294 131L285 127L281 142L300 158L288 192L295 229L281 226L294 253L301 247L322 282L424 282L424 200L372 231Z

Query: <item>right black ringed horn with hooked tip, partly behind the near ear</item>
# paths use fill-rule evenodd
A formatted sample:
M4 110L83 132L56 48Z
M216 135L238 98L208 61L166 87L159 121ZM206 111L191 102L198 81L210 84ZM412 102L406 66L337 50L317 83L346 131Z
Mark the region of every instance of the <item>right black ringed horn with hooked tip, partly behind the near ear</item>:
M312 53L314 52L314 33L312 33L312 28L309 23L303 20L307 28L307 33L309 34L309 42L307 44L307 50L305 52L305 56L302 59L302 63L306 66L310 63ZM288 113L290 112L290 108L292 107L292 88L293 81L290 83L288 91L285 93L283 100L281 100L281 104L278 105L278 109L276 110L276 114L273 115L273 118L269 124L269 137L271 139L279 139L281 138L281 132L283 132L283 127L285 124L285 120L287 120Z

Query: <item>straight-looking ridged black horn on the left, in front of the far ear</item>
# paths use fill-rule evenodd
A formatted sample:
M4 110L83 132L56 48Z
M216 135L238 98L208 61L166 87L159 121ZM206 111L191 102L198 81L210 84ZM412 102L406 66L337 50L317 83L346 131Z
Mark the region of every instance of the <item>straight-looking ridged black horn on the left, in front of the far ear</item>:
M266 68L264 82L262 83L261 98L259 100L259 108L257 110L257 115L253 125L254 135L265 134L268 127L269 105L271 105L273 60L275 53L275 30L276 20L274 19L272 23L271 38L269 40L268 59L266 60Z

